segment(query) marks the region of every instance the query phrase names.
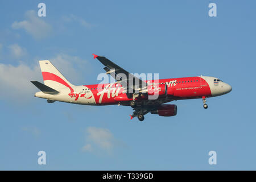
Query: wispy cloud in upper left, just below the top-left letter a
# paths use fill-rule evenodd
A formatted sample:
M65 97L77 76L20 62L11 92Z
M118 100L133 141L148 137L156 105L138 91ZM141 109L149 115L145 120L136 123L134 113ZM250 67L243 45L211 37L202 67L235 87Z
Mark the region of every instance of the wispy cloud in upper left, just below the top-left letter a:
M52 31L50 24L46 23L43 18L39 18L34 10L29 10L25 13L25 20L14 22L11 24L14 29L23 28L28 34L31 34L35 39L42 39L49 35Z

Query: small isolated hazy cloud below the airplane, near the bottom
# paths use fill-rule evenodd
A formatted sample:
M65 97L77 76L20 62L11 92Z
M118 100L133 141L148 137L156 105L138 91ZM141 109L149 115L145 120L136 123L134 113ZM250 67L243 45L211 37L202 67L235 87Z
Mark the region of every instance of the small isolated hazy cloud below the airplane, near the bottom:
M95 146L108 153L112 152L115 138L109 129L88 127L86 129L86 133L88 134L86 138L88 142L93 143ZM92 151L92 146L90 143L82 147L82 150L85 151L86 149L86 151Z

